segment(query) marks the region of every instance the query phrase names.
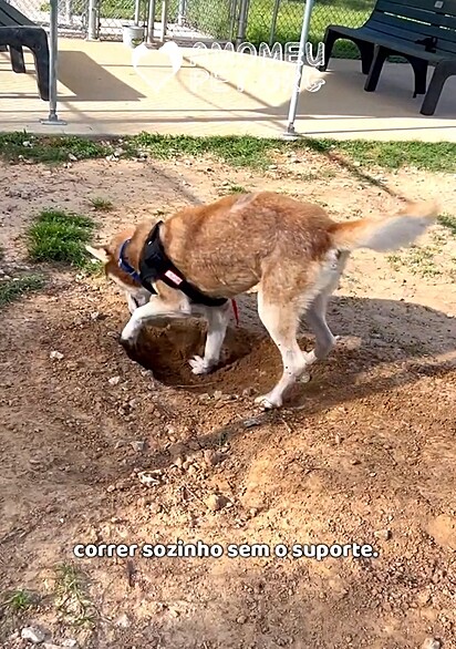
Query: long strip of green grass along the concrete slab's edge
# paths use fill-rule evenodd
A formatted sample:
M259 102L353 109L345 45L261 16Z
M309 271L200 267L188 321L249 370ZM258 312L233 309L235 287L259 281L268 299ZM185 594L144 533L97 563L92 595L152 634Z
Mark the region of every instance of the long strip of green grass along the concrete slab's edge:
M25 144L24 144L25 143ZM211 155L234 167L265 169L276 162L278 154L319 153L338 164L359 167L398 169L416 167L429 172L456 173L456 144L450 142L367 142L302 138L286 142L279 138L251 136L168 136L141 133L111 143L83 137L39 137L12 133L0 135L0 156L20 162L43 163L116 156L133 158L149 156L155 159L175 159L180 156ZM329 173L328 171L325 172Z

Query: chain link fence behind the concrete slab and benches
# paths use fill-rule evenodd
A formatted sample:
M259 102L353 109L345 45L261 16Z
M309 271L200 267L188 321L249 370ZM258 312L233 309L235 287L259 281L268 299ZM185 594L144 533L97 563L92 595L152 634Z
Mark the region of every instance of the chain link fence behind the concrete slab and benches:
M34 22L49 24L49 0L10 2ZM309 40L321 42L329 24L362 25L374 4L375 0L317 0ZM168 39L239 44L241 34L256 47L299 41L304 9L303 0L166 0L166 6ZM59 0L59 27L66 35L120 40L123 25L144 25L146 31L152 16L157 38L163 34L162 0ZM357 59L359 51L349 41L338 41L333 55Z

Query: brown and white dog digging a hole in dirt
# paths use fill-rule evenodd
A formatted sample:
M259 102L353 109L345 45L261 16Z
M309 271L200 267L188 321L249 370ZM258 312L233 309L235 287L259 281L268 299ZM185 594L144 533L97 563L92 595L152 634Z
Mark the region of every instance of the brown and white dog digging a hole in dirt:
M437 214L434 203L408 203L398 214L384 218L335 223L318 205L261 192L186 207L157 231L167 258L205 296L229 299L258 285L258 313L283 364L277 385L256 400L270 409L280 408L288 389L298 379L309 380L309 367L331 351L335 338L327 324L327 305L350 253L408 246ZM121 340L134 343L146 320L203 316L208 321L204 358L195 357L189 363L196 374L209 372L219 362L229 303L198 305L177 288L180 280L176 288L162 279L149 285L152 290L141 285L141 259L153 225L132 226L108 246L87 248L126 291L132 317ZM125 264L120 267L120 257L125 259L125 255L131 272ZM154 289L156 295L152 295ZM315 348L310 352L301 351L297 342L304 313L315 334Z

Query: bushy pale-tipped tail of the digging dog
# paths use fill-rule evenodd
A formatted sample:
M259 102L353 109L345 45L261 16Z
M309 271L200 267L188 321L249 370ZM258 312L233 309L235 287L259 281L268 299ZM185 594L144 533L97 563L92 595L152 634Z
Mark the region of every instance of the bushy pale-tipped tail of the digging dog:
M338 223L331 228L334 247L340 250L370 248L379 253L410 246L436 220L435 202L407 203L397 214Z

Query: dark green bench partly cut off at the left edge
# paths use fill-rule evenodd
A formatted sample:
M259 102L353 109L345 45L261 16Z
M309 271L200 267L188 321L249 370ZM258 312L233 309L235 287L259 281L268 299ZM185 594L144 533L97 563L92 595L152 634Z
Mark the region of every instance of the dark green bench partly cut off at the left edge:
M0 0L0 52L9 50L11 66L19 74L27 72L23 48L33 54L40 97L49 101L48 34L9 2Z

